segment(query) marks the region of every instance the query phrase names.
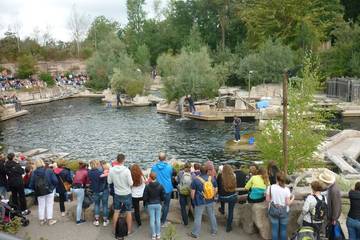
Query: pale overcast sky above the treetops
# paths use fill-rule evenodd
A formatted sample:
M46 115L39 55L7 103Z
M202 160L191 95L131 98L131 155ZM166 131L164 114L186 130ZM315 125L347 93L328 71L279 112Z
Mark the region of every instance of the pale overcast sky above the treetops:
M168 0L161 0L162 7ZM153 17L153 0L145 0L147 17ZM96 16L118 21L122 26L127 22L126 0L0 0L0 38L16 23L20 35L34 36L34 29L49 32L56 40L68 41L71 34L67 22L73 4L79 13L92 20Z

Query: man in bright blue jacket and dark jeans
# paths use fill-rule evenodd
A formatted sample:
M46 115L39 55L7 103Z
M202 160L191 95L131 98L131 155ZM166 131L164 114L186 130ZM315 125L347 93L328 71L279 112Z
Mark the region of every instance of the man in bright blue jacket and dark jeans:
M159 153L159 161L151 168L151 172L156 174L157 181L163 186L164 188L164 204L162 206L162 213L161 213L161 225L166 223L166 218L169 212L170 200L171 200L171 193L173 191L172 185L172 173L173 168L170 164L166 163L166 154L163 152Z

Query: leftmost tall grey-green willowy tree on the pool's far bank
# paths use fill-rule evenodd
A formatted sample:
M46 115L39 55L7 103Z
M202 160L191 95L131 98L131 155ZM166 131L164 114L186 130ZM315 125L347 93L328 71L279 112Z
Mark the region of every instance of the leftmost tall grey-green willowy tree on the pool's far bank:
M124 55L124 43L115 34L108 35L108 40L101 42L98 50L87 61L86 69L90 76L88 86L99 90L109 87L114 68Z

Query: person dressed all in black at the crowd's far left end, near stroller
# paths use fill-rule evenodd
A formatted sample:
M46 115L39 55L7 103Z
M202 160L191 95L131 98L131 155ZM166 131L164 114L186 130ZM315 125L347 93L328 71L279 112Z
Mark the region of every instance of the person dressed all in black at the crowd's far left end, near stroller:
M9 153L7 158L8 161L5 163L5 171L8 179L9 190L11 191L11 201L18 210L23 212L23 214L28 214L30 211L27 210L26 207L24 181L22 178L24 169L15 161L14 153Z

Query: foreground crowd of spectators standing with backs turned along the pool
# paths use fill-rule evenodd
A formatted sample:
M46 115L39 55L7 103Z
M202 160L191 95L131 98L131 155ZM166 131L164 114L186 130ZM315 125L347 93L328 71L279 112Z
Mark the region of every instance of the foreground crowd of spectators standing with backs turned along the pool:
M24 170L15 160L15 155L9 153L7 161L0 158L0 195L7 198L7 190L12 193L12 202L24 214L27 209L24 188L34 191L38 201L38 217L41 225L53 225L53 205L55 193L59 195L61 216L65 216L67 192L76 196L76 224L82 224L84 219L84 204L91 190L94 203L95 226L104 227L110 224L109 198L113 199L114 214L113 229L117 234L119 228L126 226L124 237L133 233L132 212L135 222L141 226L140 203L149 214L151 239L161 238L161 227L168 225L168 213L174 188L177 189L181 209L182 222L193 225L189 236L199 238L202 229L202 216L206 211L209 217L211 235L218 231L215 217L215 203L220 202L217 209L225 214L227 209L226 232L232 231L233 212L236 204L268 202L268 215L272 229L272 239L287 239L290 205L294 195L287 186L286 175L279 171L274 162L267 169L251 165L249 173L230 165L219 166L216 169L211 161L206 164L185 163L181 170L166 161L165 153L159 153L159 160L152 166L149 175L145 175L139 165L126 165L124 154L118 154L115 161L100 162L92 160L89 165L79 162L79 169L73 174L65 167L65 161L45 165L42 160L36 160ZM341 194L331 171L325 170L318 179L311 183L312 193L306 197L299 224L311 229L313 238L320 239L322 233L328 232L329 239L335 239L338 219L341 213ZM349 192L350 211L347 227L350 239L360 238L360 182ZM225 208L225 205L228 205ZM122 224L120 226L120 224ZM327 226L324 230L323 226ZM341 232L341 231L340 231ZM308 232L306 232L308 234ZM301 230L298 234L302 234Z

